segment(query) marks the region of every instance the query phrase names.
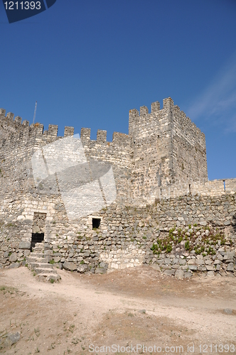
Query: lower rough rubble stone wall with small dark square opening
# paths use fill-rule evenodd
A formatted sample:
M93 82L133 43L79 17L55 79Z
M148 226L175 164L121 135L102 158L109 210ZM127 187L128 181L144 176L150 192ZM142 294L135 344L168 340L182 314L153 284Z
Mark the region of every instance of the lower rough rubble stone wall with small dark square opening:
M236 195L231 194L219 197L188 196L162 200L146 207L112 204L94 216L80 219L77 223L65 220L63 217L65 209L61 202L55 200L53 208L48 206L47 202L40 202L40 198L37 203L38 207L41 207L38 210L48 212L45 225L45 244L50 246L50 250L47 251L47 254L55 263L59 263L59 266L65 264L65 268L71 266L73 270L77 269L79 272L104 273L107 270L112 271L146 263L154 265L156 269L160 267L163 271L171 270L169 273L172 274L176 270L183 270L183 273L191 272L191 270L234 273L235 198ZM18 219L17 202L11 202L9 206L11 206L11 208L9 207L11 214L7 215L11 217L6 218L6 215L3 216L1 213L1 267L11 265L11 253L14 253L15 256L14 263L23 262L28 250L21 249L21 243L31 240L30 235L19 238L18 233L20 229L23 232L23 229L27 229L28 226L32 228L33 216L31 219L28 217L23 220ZM32 207L29 206L30 209ZM37 209L36 204L33 208ZM92 217L101 219L98 229L92 229ZM189 230L191 233L200 231L200 236L204 236L210 231L210 234L216 235L215 244L206 244L205 249L199 254L194 249L198 245L197 242L194 241L193 249L188 251L185 248L186 241L183 240L173 245L171 252L164 249L160 255L157 255L151 248L158 239L165 239L169 236L171 229L186 231L186 233ZM224 236L223 245L220 244L222 243L221 235ZM210 254L208 254L209 247L213 248L213 252ZM220 266L221 268L217 270L216 265L218 264L214 263L216 256L223 256L221 261L224 263L225 255L231 252L233 256L227 259L230 263L229 270L224 266L226 264L222 264L222 267ZM231 256L231 254L229 255ZM220 260L221 256L217 260ZM167 263L164 259L171 261L167 260ZM203 263L196 261L198 259L204 261L204 268ZM161 263L163 263L163 267ZM186 267L188 265L194 265L194 267L188 268ZM202 268L195 265L201 265ZM205 265L209 267L206 268ZM174 267L172 268L172 266ZM213 269L210 269L210 266L213 266Z

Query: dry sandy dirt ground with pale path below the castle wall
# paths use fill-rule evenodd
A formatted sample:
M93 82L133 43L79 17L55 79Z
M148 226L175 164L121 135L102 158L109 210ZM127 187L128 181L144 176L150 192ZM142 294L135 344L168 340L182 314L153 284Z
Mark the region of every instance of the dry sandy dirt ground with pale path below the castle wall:
M26 267L0 271L0 353L236 354L236 278L58 272L52 284Z

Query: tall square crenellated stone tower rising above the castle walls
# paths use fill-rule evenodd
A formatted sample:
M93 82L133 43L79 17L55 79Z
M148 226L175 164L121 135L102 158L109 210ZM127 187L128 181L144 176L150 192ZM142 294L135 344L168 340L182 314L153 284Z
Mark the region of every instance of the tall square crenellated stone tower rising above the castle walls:
M205 135L169 97L129 111L134 196L158 196L161 187L208 181ZM151 198L151 200L152 200Z

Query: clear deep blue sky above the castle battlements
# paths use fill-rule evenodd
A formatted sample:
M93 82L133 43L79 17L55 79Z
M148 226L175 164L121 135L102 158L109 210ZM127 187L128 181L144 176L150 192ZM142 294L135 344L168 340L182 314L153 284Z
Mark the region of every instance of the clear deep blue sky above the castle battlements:
M57 0L9 24L0 107L33 122L128 133L129 109L171 97L205 133L208 178L236 178L235 0Z

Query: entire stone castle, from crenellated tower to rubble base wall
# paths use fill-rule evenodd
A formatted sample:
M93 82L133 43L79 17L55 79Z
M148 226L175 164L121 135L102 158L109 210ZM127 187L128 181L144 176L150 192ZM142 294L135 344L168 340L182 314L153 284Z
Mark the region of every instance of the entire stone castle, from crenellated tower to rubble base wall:
M90 129L82 128L77 141L73 134L73 127L65 127L64 137L58 137L58 126L44 131L42 124L29 126L0 109L0 268L26 263L32 246L42 242L44 261L79 272L104 273L148 263L170 275L176 270L234 273L236 179L208 181L205 135L171 98L163 100L162 109L154 102L151 112L146 107L129 111L129 134L114 132L112 142L107 142L106 131L98 130L96 141L90 140ZM55 147L63 140L70 146L60 156ZM112 172L113 200L106 187L101 208L71 219L60 188L63 181L65 195L70 195L73 187L65 183L70 168L55 172L56 159L65 160L64 166L77 163L72 185L77 181L94 187L97 179L101 187L102 174ZM36 181L33 164L45 179ZM95 200L86 197L85 203L89 198ZM205 253L203 245L201 252L196 249L195 240L202 243L206 228L216 238L214 253ZM159 250L156 240L166 240L169 229L170 247ZM183 233L186 229L190 232ZM190 234L197 244L186 250L175 239L180 233L182 239ZM210 258L218 254L227 265L221 261L212 266ZM39 268L38 274L48 277Z

